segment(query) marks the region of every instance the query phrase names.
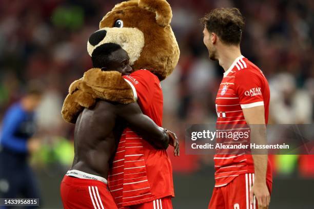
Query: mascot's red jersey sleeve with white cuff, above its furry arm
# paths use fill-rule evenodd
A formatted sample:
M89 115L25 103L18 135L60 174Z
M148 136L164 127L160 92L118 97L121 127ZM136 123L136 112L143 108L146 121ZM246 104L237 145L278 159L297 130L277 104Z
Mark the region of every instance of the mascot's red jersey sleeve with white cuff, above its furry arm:
M154 94L153 76L155 75L148 70L137 70L123 76L133 89L134 97L138 100L141 109L144 110L150 106Z

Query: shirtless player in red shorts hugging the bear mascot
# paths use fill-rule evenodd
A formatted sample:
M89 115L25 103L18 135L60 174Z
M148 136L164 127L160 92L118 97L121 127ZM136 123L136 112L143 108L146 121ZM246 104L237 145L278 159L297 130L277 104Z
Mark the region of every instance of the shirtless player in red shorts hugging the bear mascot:
M93 51L93 66L116 70L123 75L132 72L129 56L116 44L105 44ZM125 122L158 149L168 147L175 135L157 126L144 115L138 103L121 105L103 100L78 116L74 132L72 168L61 183L64 208L117 208L109 190L107 176ZM131 145L129 145L131 147Z

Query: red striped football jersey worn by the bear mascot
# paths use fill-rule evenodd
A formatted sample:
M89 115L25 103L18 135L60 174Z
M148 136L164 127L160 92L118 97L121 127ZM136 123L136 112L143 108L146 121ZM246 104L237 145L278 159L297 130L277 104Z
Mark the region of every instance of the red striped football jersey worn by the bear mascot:
M162 126L163 93L158 77L148 70L138 70L124 78L143 113ZM108 185L119 208L174 196L172 166L166 150L154 149L127 128L113 159Z

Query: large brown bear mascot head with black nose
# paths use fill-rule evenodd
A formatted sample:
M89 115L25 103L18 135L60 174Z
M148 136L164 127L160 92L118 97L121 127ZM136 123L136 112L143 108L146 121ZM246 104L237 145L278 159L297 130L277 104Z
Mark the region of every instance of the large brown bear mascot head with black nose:
M128 52L133 69L146 69L165 79L179 60L179 46L170 21L172 12L165 0L131 0L115 5L93 33L87 51L106 43L120 45Z

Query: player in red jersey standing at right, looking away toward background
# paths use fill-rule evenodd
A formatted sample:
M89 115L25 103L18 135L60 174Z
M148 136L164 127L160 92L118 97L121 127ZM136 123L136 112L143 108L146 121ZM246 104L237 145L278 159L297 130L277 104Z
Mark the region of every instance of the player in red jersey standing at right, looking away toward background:
M225 70L217 97L217 125L251 128L266 141L269 87L263 72L240 51L244 18L239 9L214 9L201 19L209 58ZM260 124L259 126L252 126ZM208 208L267 208L272 174L267 155L215 155L215 187Z

